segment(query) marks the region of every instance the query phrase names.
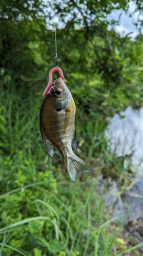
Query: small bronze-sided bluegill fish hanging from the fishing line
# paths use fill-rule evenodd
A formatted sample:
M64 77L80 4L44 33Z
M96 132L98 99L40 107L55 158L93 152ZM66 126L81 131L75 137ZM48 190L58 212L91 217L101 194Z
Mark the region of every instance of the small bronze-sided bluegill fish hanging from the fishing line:
M73 153L77 151L75 130L76 106L62 78L56 79L40 110L40 132L47 153L54 155L58 147L71 179L80 173L94 172L93 168Z

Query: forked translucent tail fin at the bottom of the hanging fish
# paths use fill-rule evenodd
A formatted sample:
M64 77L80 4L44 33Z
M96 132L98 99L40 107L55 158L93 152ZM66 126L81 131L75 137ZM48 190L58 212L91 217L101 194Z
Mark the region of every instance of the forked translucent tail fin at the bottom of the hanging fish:
M65 159L65 164L73 182L75 182L75 178L78 174L88 172L94 173L94 169L75 154L72 157Z

